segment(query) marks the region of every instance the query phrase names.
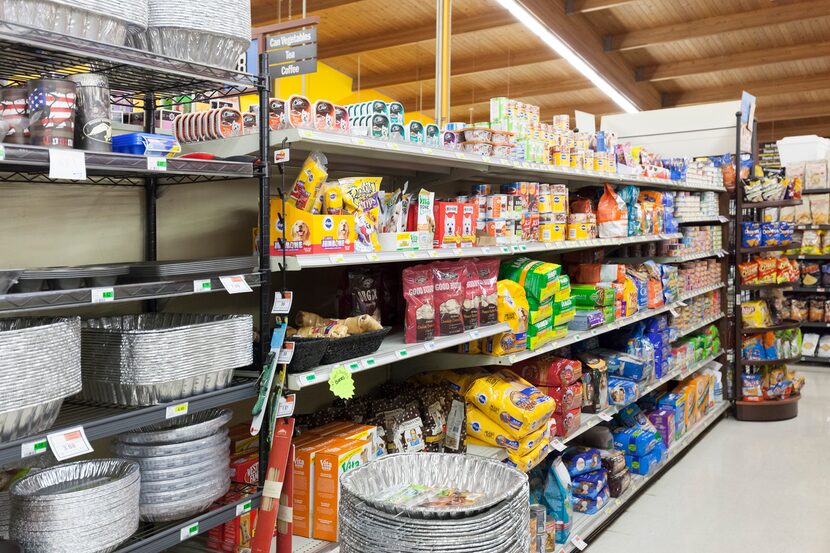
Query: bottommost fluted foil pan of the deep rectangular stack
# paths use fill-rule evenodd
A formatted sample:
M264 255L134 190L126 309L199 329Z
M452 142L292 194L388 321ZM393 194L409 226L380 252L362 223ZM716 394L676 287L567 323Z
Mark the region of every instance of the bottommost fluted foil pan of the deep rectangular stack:
M88 401L139 407L221 390L230 386L232 381L233 369L181 378L163 384L115 384L84 380L84 388L78 397Z

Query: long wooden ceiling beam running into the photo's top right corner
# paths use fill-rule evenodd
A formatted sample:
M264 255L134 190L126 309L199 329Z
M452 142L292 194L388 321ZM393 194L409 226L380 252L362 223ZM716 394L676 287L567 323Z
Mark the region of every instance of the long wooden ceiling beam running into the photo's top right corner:
M770 8L716 15L695 21L609 35L605 38L605 47L607 50L648 48L691 38L721 35L824 16L830 16L830 2L826 0L793 2Z

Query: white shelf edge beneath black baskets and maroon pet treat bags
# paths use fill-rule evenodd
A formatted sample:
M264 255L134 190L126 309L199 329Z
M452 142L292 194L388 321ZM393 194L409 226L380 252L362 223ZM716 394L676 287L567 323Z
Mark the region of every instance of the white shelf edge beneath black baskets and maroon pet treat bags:
M389 365L395 361L402 361L419 355L426 355L433 351L438 351L445 348L451 348L460 344L466 344L472 340L479 338L486 338L493 336L500 332L507 332L510 330L510 325L507 323L498 323L495 325L467 330L462 334L454 336L443 336L431 340L429 342L418 342L415 344L407 344L404 342L403 333L395 333L387 336L380 348L363 357L355 359L348 359L339 363L332 363L331 365L321 365L314 370L306 371L297 374L289 374L286 378L286 385L290 390L301 390L309 386L315 386L328 382L329 375L335 367L346 367L351 373L358 373L368 371L375 367L382 367Z

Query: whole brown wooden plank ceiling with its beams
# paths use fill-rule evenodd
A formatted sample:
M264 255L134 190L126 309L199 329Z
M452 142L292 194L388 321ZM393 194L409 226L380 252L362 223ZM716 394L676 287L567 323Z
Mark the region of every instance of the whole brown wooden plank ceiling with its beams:
M759 138L830 135L830 0L521 0L640 109L758 96ZM319 56L407 110L435 103L435 0L306 0ZM300 17L301 0L251 0L255 26ZM452 120L489 99L544 118L619 108L495 0L453 0ZM824 130L826 129L826 130Z

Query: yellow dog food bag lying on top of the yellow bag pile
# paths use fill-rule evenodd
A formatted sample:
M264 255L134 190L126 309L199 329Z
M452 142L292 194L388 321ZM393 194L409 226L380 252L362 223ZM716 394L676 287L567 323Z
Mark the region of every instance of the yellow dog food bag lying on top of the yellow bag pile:
M518 439L546 426L556 408L553 398L506 369L477 379L465 397L491 421Z

